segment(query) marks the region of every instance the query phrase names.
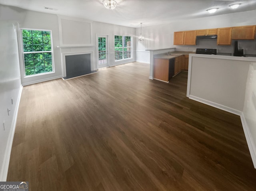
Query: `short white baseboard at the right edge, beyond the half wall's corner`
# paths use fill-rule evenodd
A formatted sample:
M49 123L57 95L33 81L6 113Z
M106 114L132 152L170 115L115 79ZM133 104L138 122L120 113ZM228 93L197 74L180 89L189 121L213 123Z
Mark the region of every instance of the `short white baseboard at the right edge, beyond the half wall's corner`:
M243 112L240 115L240 118L241 118L242 126L243 126L243 129L244 129L244 135L245 135L245 138L246 138L246 142L247 142L250 154L251 154L252 163L254 165L254 168L256 169L256 148L255 148L255 144L254 144L254 141L252 139L252 135L250 133L248 125L246 123L246 119L244 117Z

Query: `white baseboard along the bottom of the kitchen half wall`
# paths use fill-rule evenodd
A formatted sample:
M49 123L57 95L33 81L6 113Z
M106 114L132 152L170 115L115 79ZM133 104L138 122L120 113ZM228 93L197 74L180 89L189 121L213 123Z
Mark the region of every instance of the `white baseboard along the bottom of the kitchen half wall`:
M227 112L239 115L239 116L241 116L241 114L242 114L242 111L239 111L239 110L236 110L236 109L224 106L222 104L211 102L211 101L208 101L208 100L196 97L196 96L189 95L188 98L190 98L192 100L195 100L195 101L198 101L198 102L201 102L201 103L204 103L206 105L210 105L210 106L216 107L218 109L221 109L221 110L224 110L224 111L227 111Z

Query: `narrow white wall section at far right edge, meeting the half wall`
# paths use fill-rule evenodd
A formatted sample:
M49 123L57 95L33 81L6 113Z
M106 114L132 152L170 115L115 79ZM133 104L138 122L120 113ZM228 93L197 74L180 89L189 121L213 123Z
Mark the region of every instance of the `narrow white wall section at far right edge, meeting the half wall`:
M254 168L256 168L256 62L252 62L249 66L241 120Z

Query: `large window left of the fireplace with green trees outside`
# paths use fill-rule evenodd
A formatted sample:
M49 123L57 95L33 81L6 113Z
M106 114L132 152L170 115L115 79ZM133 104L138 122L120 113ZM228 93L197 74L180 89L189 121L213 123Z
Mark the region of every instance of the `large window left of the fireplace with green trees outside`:
M51 32L22 29L25 76L54 71Z

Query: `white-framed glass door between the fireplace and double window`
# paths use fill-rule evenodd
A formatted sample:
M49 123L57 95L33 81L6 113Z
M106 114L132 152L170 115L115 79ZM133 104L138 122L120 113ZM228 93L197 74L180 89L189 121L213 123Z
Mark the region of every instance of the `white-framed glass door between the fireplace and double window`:
M98 36L98 69L108 67L108 36Z

